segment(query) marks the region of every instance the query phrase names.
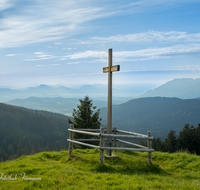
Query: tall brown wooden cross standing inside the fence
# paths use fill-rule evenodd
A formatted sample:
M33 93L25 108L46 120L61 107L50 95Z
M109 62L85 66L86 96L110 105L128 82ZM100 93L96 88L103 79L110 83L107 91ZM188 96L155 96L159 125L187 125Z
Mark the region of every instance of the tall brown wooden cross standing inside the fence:
M119 71L120 66L112 66L112 49L108 50L108 67L103 68L104 73L108 73L108 119L107 119L107 133L112 133L112 72ZM108 146L112 146L111 138L108 138ZM108 156L112 156L112 151L107 151Z

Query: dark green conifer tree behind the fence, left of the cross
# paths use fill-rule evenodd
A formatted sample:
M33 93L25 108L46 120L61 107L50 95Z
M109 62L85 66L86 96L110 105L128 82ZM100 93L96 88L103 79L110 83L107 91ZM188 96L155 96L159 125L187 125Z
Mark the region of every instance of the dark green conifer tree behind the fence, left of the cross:
M72 112L72 116L74 117L73 121L68 119L68 123L74 124L75 128L80 129L99 129L101 126L101 118L99 118L100 109L95 112L97 106L93 106L92 100L90 100L88 96L85 96L83 100L80 99L79 101L80 105L77 105L77 109L73 109ZM94 137L91 135L75 133L74 138L89 139Z

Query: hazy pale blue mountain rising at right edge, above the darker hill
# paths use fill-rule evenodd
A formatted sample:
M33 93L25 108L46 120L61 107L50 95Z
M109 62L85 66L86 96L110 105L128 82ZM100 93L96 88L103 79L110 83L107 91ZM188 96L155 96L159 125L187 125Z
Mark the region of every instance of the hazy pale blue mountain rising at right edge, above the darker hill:
M176 97L193 99L200 97L200 79L182 78L169 81L140 97Z

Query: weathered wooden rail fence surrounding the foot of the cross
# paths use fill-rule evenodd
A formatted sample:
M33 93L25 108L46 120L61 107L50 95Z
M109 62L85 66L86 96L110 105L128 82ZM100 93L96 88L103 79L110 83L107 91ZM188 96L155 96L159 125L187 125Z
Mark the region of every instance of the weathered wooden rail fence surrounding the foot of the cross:
M104 164L104 150L114 150L115 152L117 150L127 150L127 151L142 151L142 152L148 152L148 164L152 164L152 156L151 152L154 152L154 149L152 149L152 140L153 137L151 136L151 132L148 131L147 135L139 134L139 133L133 133L133 132L128 132L128 131L123 131L123 130L118 130L116 127L113 128L112 132L114 134L105 134L107 130L104 128L100 129L74 129L74 125L70 124L70 129L69 130L69 156L72 155L73 151L73 143L88 146L91 148L97 148L100 149L100 156L99 156L99 163ZM124 133L126 135L121 135L117 134L119 133ZM81 134L87 134L87 135L92 135L92 136L97 136L99 137L98 139L74 139L74 133L81 133ZM105 141L107 138L112 138L113 141L113 147L106 147L105 146ZM142 140L147 140L147 147L135 144L132 142L120 140L118 138L130 138L130 139L142 139ZM100 141L99 146L93 145L93 144L88 144L84 143L84 141ZM124 148L124 147L117 147L117 141L125 144L129 144L132 146L136 146L139 148Z

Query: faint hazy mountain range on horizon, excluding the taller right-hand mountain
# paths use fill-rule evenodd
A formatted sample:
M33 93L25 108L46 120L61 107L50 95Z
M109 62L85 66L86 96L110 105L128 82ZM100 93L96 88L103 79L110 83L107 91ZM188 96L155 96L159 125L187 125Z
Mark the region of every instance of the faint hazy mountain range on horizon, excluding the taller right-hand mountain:
M125 99L129 98L130 100L130 98L142 94L152 87L155 87L155 85L113 85L113 97L125 97ZM83 98L89 95L98 100L106 100L107 88L107 85L103 84L84 85L78 88L69 88L66 86L52 87L44 84L27 89L0 88L0 102L7 102L13 99L26 99L31 96L43 98Z

